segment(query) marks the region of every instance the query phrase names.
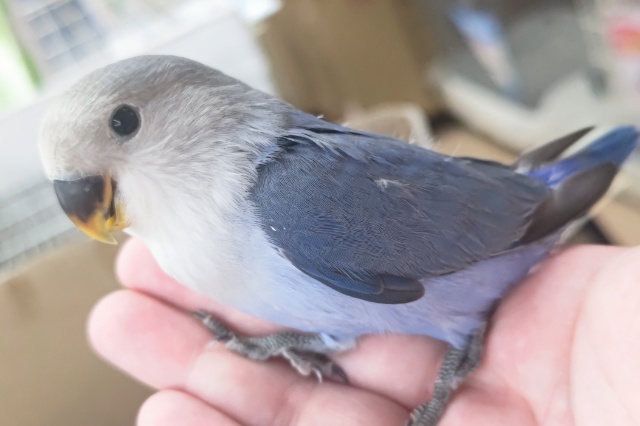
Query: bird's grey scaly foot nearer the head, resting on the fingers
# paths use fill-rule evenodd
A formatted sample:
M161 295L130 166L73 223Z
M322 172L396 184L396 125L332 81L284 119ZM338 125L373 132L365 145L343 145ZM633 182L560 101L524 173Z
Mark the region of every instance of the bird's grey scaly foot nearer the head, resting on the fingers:
M324 377L337 378L348 383L347 374L326 354L347 349L337 347L328 336L322 334L304 334L291 331L269 334L261 337L238 336L224 324L203 311L195 311L192 315L227 348L259 361L271 357L282 357L303 376L313 373L318 381ZM333 343L333 344L332 344Z

